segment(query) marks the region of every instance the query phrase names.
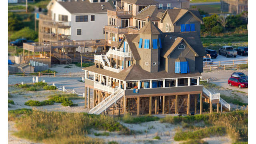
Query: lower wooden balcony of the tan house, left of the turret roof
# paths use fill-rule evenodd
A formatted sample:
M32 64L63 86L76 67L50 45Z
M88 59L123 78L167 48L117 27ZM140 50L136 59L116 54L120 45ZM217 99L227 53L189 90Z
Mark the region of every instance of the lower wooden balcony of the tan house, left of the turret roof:
M129 26L127 28L120 28L116 26L105 26L106 32L116 33L116 34L138 34L138 28Z

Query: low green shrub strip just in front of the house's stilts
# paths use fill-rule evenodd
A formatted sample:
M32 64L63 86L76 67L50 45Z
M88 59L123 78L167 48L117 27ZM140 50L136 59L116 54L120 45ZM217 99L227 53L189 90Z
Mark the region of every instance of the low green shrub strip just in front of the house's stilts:
M122 117L122 121L124 123L128 123L128 124L138 124L141 122L151 122L151 121L156 121L159 120L160 118L156 117L156 116L131 116L129 114L124 115L124 117Z

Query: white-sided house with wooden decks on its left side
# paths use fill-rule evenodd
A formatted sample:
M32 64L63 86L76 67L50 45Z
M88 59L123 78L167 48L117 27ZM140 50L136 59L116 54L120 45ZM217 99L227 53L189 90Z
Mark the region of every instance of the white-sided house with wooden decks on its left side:
M38 14L39 42L104 39L107 10L113 5L107 0L52 0L48 15Z

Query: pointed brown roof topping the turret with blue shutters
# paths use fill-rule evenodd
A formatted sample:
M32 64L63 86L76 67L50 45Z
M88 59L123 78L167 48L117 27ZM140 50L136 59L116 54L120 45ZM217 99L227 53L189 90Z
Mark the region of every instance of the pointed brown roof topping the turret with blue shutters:
M156 27L151 21L147 22L142 29L138 30L139 34L162 34L163 32Z

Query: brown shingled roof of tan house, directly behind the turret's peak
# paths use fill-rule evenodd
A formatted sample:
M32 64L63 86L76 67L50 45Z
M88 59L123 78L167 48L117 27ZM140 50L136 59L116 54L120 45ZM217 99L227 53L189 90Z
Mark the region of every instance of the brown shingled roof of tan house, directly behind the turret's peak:
M152 21L159 21L163 14L163 9L158 9L156 6L148 6L146 9L139 12L136 16L133 16L133 18L145 20L147 16L150 16Z

